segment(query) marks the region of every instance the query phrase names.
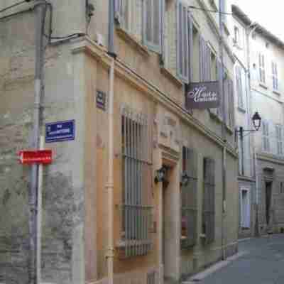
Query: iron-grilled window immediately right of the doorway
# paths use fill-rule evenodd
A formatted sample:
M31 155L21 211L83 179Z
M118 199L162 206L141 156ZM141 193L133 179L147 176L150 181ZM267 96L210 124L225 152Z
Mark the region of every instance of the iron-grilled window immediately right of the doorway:
M181 247L194 246L197 239L197 153L182 148L182 173L189 177L187 185L181 185Z

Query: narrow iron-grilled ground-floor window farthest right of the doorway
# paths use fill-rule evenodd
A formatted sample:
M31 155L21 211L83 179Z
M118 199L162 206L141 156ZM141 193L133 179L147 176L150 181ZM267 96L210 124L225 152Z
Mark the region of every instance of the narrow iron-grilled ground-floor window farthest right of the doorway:
M204 243L210 244L215 239L215 161L211 158L204 158L203 174L202 234Z

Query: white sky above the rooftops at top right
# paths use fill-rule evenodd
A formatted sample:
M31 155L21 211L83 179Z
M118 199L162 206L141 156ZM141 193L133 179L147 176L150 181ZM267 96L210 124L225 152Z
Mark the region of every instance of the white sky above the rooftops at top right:
M252 21L284 41L284 0L231 0Z

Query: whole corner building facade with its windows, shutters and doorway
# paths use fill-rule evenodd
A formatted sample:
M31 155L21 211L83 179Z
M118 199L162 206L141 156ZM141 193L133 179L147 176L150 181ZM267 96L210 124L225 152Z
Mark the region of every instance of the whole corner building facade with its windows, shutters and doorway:
M41 132L50 122L74 120L75 139L45 143L54 161L43 175L43 283L108 283L110 271L114 283L178 283L236 253L234 55L225 17L225 114L221 107L185 108L188 83L219 77L219 19L207 11L218 9L216 1L117 1L115 59L108 1L50 3ZM28 148L33 127L35 27L32 9L9 13L29 7L33 2L0 18L0 279L7 284L28 283L30 169L16 153ZM155 179L160 169L163 182Z

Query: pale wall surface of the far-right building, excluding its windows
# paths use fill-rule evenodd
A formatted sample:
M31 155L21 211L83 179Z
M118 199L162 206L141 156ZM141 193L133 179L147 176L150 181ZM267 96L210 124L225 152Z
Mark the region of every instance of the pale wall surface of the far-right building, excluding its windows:
M259 204L259 226L262 234L266 231L280 231L283 226L283 200L280 195L280 181L284 173L283 156L278 153L275 125L283 126L283 49L259 33L250 38L252 106L268 124L270 149L264 148L263 127L255 135L257 160L257 202ZM258 55L265 57L266 82L260 82ZM278 66L278 90L273 88L272 62ZM273 111L271 111L273 110ZM283 137L280 138L283 141ZM267 170L271 169L271 171ZM272 182L271 222L266 223L266 182Z

